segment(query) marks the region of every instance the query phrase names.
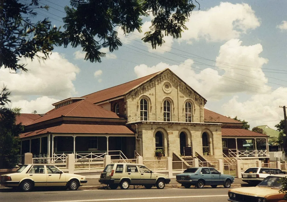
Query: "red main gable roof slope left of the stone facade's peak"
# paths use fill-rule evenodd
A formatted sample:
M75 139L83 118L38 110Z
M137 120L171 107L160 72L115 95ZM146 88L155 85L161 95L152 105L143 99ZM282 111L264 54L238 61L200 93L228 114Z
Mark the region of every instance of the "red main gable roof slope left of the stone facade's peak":
M135 79L133 81L129 81L127 83L123 83L123 84L120 84L114 87L110 87L110 88L107 88L101 91L97 91L95 93L91 93L91 94L88 94L82 97L86 97L85 100L87 100L88 102L97 103L97 102L102 102L102 101L105 101L111 98L123 96L126 92L130 91L137 85L140 85L141 83L147 81L148 79L152 78L158 73L159 72L156 72L154 74L150 74L148 76L144 76L144 77Z

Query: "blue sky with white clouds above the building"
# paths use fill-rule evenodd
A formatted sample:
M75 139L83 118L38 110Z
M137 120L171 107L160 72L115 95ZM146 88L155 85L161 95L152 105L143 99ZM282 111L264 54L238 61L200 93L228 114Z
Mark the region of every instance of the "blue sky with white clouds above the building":
M37 9L35 20L48 16L52 25L63 27L69 1L40 2L50 9ZM102 48L107 55L101 63L85 61L80 47L68 46L55 47L44 62L25 60L28 72L11 74L1 68L0 85L12 91L10 107L46 113L60 100L169 68L207 100L206 109L244 119L250 129L275 128L284 119L279 106L287 105L287 1L199 3L200 10L197 6L192 12L182 37L167 36L155 50L141 41L150 16L143 20L142 33L125 36L119 29L123 46L113 53Z

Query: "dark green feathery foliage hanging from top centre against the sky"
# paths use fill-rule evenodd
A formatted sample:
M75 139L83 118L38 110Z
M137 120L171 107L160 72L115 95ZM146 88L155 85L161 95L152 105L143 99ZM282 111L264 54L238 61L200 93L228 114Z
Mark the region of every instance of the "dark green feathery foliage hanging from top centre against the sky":
M161 46L164 36L181 37L187 30L185 22L195 8L192 0L70 0L71 8L65 7L62 44L67 47L81 46L86 52L85 60L101 62L105 53L100 48L109 47L113 52L122 46L117 29L125 34L138 30L141 32L142 17L152 15L150 31L142 38L152 44L152 48ZM195 1L197 3L197 1ZM199 5L199 4L198 4Z

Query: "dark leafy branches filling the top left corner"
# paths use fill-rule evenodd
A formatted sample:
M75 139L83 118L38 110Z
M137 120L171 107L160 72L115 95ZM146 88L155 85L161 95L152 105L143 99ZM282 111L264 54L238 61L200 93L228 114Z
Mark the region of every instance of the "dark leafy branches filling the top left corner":
M25 64L19 63L22 57L47 59L53 46L60 43L61 32L52 27L48 18L31 21L37 16L33 9L48 9L39 7L38 1L32 0L30 4L19 0L0 1L0 68L27 71Z

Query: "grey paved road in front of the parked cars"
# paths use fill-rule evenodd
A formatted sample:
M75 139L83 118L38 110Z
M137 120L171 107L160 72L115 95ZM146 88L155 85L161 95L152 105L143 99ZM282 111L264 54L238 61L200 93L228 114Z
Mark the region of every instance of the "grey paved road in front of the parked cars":
M226 188L170 188L158 190L129 189L129 190L35 190L32 192L15 192L11 189L0 189L1 202L96 202L96 201L131 201L131 202L223 202L227 201Z

